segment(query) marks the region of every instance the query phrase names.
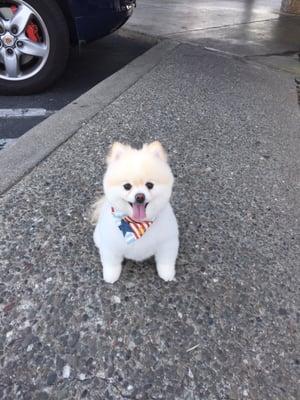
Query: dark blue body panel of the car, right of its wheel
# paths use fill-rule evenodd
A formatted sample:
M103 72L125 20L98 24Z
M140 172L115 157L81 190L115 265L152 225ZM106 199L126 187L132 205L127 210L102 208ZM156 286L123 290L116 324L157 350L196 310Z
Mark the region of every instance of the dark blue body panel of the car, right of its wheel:
M89 42L122 26L133 12L135 0L68 0L77 41Z

